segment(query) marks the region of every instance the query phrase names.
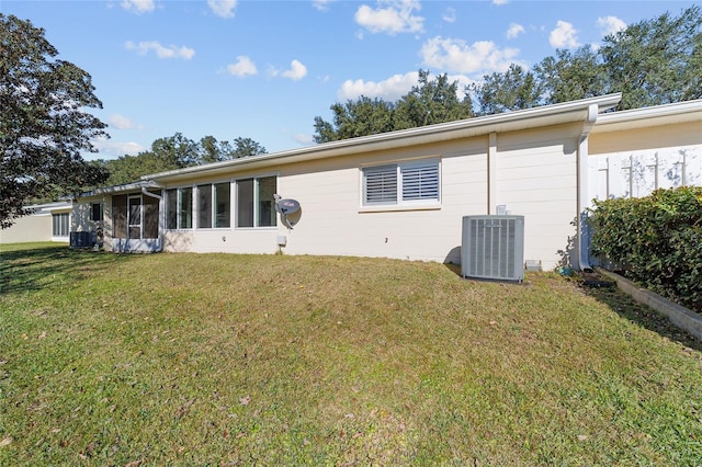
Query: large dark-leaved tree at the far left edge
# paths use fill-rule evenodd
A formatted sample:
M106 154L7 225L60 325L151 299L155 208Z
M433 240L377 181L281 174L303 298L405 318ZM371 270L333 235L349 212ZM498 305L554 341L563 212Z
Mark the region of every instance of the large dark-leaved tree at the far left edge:
M107 137L84 109L101 109L91 77L54 59L44 30L0 14L0 228L30 214L32 200L71 193L106 179L86 162L90 140Z

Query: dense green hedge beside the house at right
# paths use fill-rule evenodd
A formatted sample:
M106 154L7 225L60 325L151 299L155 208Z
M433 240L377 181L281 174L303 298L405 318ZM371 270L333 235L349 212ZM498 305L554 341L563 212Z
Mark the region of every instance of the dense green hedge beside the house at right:
M702 187L605 200L590 209L592 253L629 278L702 311Z

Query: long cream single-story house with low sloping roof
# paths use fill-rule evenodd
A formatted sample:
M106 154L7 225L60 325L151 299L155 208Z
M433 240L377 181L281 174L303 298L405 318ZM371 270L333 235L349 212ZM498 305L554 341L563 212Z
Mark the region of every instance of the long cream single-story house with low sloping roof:
M523 255L589 267L593 198L701 184L702 101L624 112L621 94L191 167L83 194L115 252L386 257L460 262L462 218L524 218ZM276 197L295 213L276 212Z

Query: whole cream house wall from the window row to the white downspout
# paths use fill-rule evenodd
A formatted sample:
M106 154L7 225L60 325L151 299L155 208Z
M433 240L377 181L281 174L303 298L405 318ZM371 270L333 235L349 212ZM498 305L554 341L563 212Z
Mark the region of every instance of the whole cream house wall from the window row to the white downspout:
M278 171L278 193L301 205L301 219L287 230L224 228L167 230L166 251L275 253L284 236L286 254L330 254L460 262L462 219L505 204L525 216L524 258L553 269L561 260L576 217L576 144L579 126L497 135L495 200L489 200L488 135L409 150L360 153L286 164ZM495 140L495 138L492 138ZM388 162L440 160L441 204L422 208L362 206L362 168ZM170 187L265 176L270 171L197 179ZM195 203L196 204L196 203ZM236 206L235 190L231 205ZM194 213L193 217L197 217Z

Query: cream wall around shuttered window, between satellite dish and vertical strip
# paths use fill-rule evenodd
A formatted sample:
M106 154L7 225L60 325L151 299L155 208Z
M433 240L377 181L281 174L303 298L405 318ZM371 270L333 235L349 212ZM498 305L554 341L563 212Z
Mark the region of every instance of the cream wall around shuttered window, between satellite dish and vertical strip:
M458 145L360 155L305 164L282 173L279 191L301 203L302 218L287 235L291 254L344 254L460 261L461 223L485 214L487 138ZM414 158L440 159L441 206L369 209L361 201L361 168Z

